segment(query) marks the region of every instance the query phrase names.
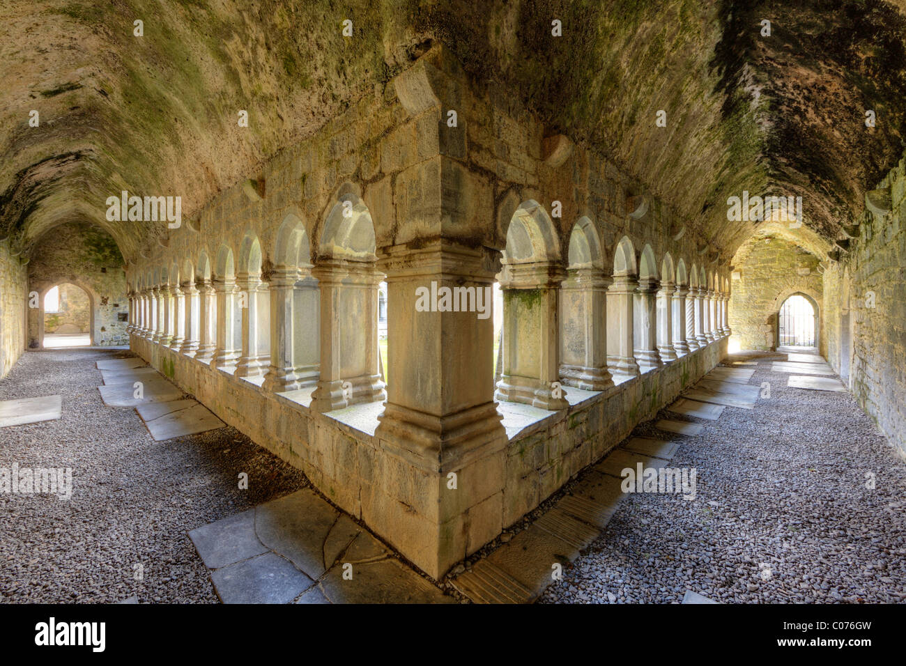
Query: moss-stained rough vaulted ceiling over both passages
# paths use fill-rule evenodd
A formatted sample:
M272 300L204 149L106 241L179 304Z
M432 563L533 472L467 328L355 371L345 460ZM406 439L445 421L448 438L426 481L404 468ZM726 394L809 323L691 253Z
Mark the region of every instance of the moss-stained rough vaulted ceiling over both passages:
M86 221L134 260L164 226L107 222L111 194L179 194L191 217L439 40L726 259L757 227L727 220L743 190L802 196L800 242L823 252L901 157L904 38L903 3L882 0L5 0L0 238L27 252Z

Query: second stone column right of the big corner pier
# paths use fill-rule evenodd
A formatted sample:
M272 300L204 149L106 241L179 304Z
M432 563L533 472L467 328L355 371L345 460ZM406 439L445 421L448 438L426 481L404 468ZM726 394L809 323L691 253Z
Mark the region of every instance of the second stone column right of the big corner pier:
M586 391L613 386L607 369L607 287L597 268L571 268L560 285L560 381Z

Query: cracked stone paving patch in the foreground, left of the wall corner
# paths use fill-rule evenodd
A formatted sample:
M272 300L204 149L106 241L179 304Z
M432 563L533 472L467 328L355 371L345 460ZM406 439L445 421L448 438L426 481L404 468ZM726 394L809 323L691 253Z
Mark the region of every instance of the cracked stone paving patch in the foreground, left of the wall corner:
M224 603L456 603L309 488L189 536Z

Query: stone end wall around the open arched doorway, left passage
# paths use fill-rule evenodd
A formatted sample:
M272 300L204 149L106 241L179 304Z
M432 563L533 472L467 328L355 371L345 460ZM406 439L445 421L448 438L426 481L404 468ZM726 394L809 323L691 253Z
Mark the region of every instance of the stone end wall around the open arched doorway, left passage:
M129 344L126 274L122 256L113 238L90 224L66 224L38 242L28 265L29 290L39 294L36 309L29 309L28 346L39 348L43 340L43 297L55 285L76 285L88 294L92 344Z

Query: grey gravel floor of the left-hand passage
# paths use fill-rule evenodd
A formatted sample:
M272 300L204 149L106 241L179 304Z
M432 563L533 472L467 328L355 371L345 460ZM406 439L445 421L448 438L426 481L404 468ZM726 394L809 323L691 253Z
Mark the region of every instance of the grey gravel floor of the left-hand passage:
M28 352L0 381L0 400L63 396L61 420L0 430L0 467L71 467L73 486L0 494L0 602L217 603L188 531L304 487L232 428L155 442L135 410L104 406L94 363L126 355Z

